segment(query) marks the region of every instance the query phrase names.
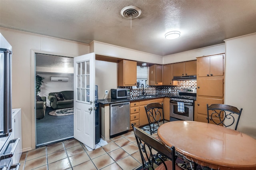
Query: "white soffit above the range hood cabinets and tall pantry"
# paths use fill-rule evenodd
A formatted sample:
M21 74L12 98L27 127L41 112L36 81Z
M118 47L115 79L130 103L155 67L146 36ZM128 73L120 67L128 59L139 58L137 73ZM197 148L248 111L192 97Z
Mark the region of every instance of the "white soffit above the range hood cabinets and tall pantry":
M163 64L178 63L182 61L196 60L196 57L202 57L207 55L215 55L225 53L225 44L212 45L209 47L203 47L193 49L190 51L184 51L181 53L166 55L163 57Z

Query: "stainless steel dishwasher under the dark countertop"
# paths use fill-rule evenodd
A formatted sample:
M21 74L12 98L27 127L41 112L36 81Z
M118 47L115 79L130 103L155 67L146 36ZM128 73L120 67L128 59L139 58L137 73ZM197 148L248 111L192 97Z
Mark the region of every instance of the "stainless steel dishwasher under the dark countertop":
M110 136L130 129L130 102L110 105Z

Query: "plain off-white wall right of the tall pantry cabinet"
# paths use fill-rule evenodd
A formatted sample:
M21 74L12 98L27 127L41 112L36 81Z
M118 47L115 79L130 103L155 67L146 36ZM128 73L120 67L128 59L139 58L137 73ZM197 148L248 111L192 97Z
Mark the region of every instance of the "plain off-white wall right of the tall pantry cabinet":
M242 108L237 130L256 138L256 33L226 40L225 104Z

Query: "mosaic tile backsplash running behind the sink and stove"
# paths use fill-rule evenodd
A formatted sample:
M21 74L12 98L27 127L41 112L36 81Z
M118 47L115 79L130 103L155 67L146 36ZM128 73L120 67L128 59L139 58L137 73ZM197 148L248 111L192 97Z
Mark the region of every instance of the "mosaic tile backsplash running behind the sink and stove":
M131 97L141 96L142 89L132 89L130 86L118 87L130 89ZM148 86L144 88L144 95L178 95L179 89L196 89L196 80L178 81L177 86Z

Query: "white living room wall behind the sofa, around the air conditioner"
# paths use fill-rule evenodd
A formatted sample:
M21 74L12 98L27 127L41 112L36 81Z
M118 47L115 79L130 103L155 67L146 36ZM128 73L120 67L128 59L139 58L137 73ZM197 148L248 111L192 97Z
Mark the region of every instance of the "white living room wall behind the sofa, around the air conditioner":
M41 77L44 77L44 83L42 83L41 91L39 96L46 97L46 106L50 107L50 101L48 100L49 93L74 90L74 75L73 74L46 74L46 73L37 73ZM68 77L67 82L54 82L51 81L51 77Z

